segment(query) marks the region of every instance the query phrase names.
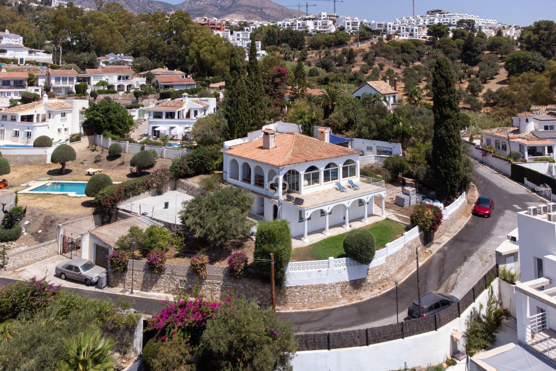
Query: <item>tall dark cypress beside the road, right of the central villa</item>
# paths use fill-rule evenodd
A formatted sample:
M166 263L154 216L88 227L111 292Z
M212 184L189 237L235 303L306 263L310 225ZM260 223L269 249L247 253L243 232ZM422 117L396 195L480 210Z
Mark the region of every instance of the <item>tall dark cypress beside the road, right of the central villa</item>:
M433 171L436 195L455 196L463 179L459 99L454 72L446 57L436 60L433 75Z

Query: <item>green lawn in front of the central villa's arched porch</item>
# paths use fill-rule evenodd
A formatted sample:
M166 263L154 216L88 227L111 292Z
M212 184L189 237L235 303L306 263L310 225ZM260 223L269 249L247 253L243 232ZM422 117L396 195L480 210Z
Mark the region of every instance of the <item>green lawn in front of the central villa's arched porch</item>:
M387 243L394 241L404 234L406 226L391 219L384 219L363 227L375 236L376 250L384 249ZM347 232L346 232L347 233ZM345 233L331 236L309 246L292 251L291 261L326 260L329 256L345 258L343 241Z

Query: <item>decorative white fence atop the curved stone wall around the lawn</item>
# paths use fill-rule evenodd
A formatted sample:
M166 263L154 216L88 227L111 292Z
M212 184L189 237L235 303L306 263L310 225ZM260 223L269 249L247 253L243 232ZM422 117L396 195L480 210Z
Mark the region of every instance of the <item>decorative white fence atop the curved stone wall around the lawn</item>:
M448 219L466 200L464 192L453 204L446 206L443 212L443 220ZM361 264L351 258L334 259L332 257L328 258L328 260L290 261L285 268L285 285L327 284L365 278L370 267L385 264L386 256L398 252L410 241L419 238L420 234L418 226L410 229L400 238L386 244L384 249L376 251L374 259L370 264Z

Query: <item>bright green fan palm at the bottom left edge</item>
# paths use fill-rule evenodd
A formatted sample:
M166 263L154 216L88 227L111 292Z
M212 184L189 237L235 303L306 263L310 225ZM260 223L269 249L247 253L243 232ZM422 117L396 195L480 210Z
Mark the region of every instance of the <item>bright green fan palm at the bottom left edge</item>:
M64 342L68 360L59 361L56 371L108 371L118 364L115 346L112 335L103 337L99 329L88 329Z

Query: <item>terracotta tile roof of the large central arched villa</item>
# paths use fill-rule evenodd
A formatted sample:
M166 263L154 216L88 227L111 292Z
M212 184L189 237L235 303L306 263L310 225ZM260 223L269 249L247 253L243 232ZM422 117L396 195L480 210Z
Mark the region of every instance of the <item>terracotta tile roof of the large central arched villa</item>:
M275 147L270 150L262 148L262 138L259 138L232 146L225 153L271 166L295 165L360 154L359 151L326 143L300 133L277 134Z

